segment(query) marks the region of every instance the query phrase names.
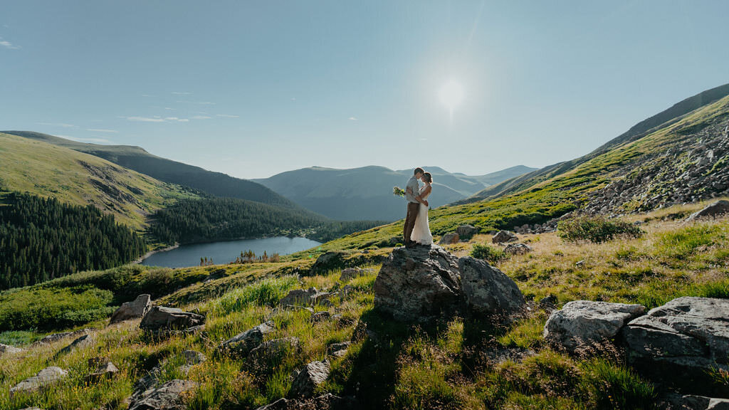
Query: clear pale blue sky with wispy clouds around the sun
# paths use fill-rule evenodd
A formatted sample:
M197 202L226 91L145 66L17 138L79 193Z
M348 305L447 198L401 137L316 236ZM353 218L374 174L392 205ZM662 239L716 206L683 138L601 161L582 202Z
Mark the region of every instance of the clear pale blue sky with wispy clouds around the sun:
M241 178L542 167L728 83L728 15L725 0L3 1L0 130Z

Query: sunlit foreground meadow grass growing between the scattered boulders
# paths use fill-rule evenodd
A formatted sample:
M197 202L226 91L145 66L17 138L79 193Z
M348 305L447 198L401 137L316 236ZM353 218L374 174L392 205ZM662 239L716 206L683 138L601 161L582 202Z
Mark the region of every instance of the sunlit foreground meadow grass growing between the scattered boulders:
M729 220L689 225L676 222L700 206L675 206L636 215L635 219L648 221L643 225L647 233L641 239L572 244L552 233L524 236L522 239L534 247L534 252L504 260L499 268L515 279L528 298L538 300L553 293L560 306L579 298L643 303L649 308L682 295L726 298ZM456 255L466 255L475 244L489 242L490 238L476 236L448 249ZM580 260L584 262L578 266ZM184 377L175 368L184 349L197 349L208 356L208 361L192 368L188 376L200 383L190 397L191 409L252 409L286 395L290 372L311 360L323 360L328 344L349 340L357 320L366 322L367 328L377 332L381 340L356 342L345 357L330 359L332 374L319 391L356 393L363 408L650 409L660 392L659 387L623 367L614 352L594 358L553 352L541 336L547 315L538 309L508 328L489 328L483 322L460 319L425 328L407 328L390 322L373 310L376 274L352 279L348 284L354 286L354 293L348 298L335 298L335 306L329 309L343 315L339 322L311 324L307 312L273 309L272 302L290 289L343 285L337 282L339 271L300 281L290 276L312 261L313 258L303 257L281 263L174 271L134 267L139 271L130 276L117 268L47 282L42 286L113 283L114 293L122 294L123 289L143 290L139 286L145 283L149 288L159 288L158 284L164 283L167 289L174 289L193 281L196 283L157 302L200 309L208 317L206 329L197 336L155 341L139 331L138 320L106 328L103 321L98 321L93 323L100 329L95 342L76 352L56 355L69 343L66 340L20 355L0 357L0 389L9 388L47 365L59 365L71 374L57 388L44 393L12 399L0 395L0 409L17 409L31 403L44 408L125 409L123 400L132 392L133 382L158 360L168 359L163 381ZM378 266L374 267L376 272ZM217 268L225 268L230 276L200 283L209 271ZM132 279L124 284L120 277ZM297 336L303 351L287 356L275 371L262 377L245 371L241 360L215 355L220 341L268 319L276 322L277 330L266 339ZM0 341L29 342L39 336L4 333L0 334ZM487 354L523 349L533 350L534 355L524 360L494 360ZM87 384L82 381L90 371L87 359L97 356L110 357L120 368L120 374L109 381Z

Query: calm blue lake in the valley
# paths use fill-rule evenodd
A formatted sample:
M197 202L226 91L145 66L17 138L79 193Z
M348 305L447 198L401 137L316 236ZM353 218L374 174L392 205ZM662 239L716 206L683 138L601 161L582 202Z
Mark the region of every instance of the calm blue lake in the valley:
M308 250L318 247L321 243L306 238L276 238L263 239L239 239L237 241L211 242L209 244L180 245L174 250L157 252L149 258L141 261L142 265L165 266L167 268L182 268L185 266L199 266L200 258L213 259L213 263L233 262L241 252L252 250L256 256L278 253L278 255L289 255L289 253Z

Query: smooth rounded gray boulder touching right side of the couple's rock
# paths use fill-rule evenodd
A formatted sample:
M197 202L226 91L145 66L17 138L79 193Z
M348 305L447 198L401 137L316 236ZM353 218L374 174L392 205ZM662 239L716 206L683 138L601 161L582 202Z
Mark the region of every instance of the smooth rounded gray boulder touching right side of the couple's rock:
M470 256L459 259L458 266L463 298L471 312L508 319L522 311L524 295L502 271Z

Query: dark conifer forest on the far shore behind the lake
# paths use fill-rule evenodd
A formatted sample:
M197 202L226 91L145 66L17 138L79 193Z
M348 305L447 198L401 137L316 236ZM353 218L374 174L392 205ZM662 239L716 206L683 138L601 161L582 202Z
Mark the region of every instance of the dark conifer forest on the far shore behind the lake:
M285 235L328 241L381 225L332 221L318 214L235 198L184 199L152 215L148 232L165 244Z

